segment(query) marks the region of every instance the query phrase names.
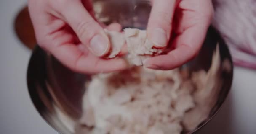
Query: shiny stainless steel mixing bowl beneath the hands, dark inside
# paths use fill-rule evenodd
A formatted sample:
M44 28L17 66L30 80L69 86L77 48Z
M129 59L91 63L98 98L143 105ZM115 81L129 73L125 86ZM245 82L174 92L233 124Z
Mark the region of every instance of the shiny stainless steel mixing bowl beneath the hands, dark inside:
M100 20L106 24L118 22L123 28L141 29L147 26L145 20L151 8L147 0L94 0L94 7L98 13L96 17L101 18ZM183 67L187 67L190 72L200 69L208 70L217 43L219 43L221 64L224 60L228 60L231 63L231 71L221 72L220 78L224 81L218 101L208 119L194 131L186 132L189 134L198 132L213 118L221 108L232 84L233 65L229 50L219 33L211 26L198 56ZM27 72L29 93L43 119L61 134L72 134L70 124L76 124L81 117L82 97L86 90L84 84L87 80L90 80L90 75L72 72L40 47L37 46L34 49ZM86 134L79 128L76 130L76 134Z

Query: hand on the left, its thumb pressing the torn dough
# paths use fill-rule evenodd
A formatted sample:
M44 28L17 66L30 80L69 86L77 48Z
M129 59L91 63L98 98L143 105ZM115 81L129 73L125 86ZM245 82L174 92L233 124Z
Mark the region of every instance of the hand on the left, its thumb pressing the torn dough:
M90 0L29 0L38 44L70 69L111 72L126 67L123 59L102 59L109 39L93 16ZM120 30L116 24L111 30Z

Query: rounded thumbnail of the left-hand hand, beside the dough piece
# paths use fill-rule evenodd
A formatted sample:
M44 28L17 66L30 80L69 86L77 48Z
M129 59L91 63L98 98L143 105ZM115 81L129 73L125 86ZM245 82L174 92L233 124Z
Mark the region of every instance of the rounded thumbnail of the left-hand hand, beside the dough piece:
M103 56L108 50L108 41L98 34L91 39L90 48L97 56Z

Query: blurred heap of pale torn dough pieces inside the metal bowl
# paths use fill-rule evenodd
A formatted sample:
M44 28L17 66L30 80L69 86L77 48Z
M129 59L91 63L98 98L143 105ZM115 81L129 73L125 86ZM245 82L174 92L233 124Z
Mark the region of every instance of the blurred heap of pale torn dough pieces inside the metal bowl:
M219 47L210 70L133 67L86 83L80 123L89 134L181 134L207 119L219 93Z

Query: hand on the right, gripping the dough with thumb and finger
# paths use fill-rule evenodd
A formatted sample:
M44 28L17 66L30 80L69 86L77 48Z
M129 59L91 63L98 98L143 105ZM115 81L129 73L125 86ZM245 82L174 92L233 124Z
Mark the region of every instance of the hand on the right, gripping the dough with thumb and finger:
M195 57L211 23L211 0L153 0L148 24L149 39L158 48L167 46L170 37L172 51L144 61L145 67L170 70Z

